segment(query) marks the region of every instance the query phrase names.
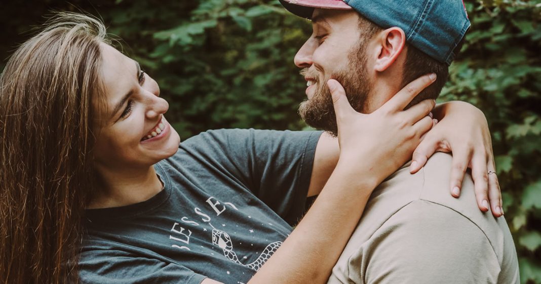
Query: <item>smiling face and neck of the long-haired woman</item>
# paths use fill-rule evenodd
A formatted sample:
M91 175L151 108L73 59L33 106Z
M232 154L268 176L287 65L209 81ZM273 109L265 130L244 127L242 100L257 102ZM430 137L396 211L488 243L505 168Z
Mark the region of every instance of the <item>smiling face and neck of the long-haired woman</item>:
M141 141L160 122L169 104L160 97L160 88L150 76L144 74L140 81L135 61L107 44L101 44L101 50L107 97L105 105L100 105L104 120L95 130L94 158L102 190L89 208L133 204L159 193L162 183L153 165L175 154L180 143L179 134L165 120L161 137ZM128 93L128 100L113 113L115 105Z

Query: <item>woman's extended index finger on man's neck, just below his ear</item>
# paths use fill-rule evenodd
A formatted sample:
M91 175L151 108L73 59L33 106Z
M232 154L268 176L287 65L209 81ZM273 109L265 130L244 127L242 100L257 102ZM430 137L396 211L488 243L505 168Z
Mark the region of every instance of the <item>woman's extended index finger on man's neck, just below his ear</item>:
M417 94L424 90L428 85L436 81L436 74L428 74L415 79L413 82L402 88L391 100L387 101L380 109L394 113L404 110L404 108L413 100Z

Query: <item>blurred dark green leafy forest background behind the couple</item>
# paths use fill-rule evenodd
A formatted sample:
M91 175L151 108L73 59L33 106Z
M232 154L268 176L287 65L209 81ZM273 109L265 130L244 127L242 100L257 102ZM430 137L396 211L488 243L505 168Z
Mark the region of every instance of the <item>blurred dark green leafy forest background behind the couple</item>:
M439 102L484 111L522 283L541 283L541 0L466 1L472 22ZM215 128L304 129L293 56L311 33L278 0L3 1L0 69L51 10L103 19L169 101L183 139Z

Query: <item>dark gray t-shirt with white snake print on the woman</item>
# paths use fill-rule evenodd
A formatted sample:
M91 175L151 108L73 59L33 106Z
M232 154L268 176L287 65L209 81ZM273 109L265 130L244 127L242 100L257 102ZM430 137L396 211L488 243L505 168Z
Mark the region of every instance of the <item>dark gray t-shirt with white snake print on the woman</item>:
M83 283L246 283L304 213L318 131L207 131L155 168L164 189L87 210Z

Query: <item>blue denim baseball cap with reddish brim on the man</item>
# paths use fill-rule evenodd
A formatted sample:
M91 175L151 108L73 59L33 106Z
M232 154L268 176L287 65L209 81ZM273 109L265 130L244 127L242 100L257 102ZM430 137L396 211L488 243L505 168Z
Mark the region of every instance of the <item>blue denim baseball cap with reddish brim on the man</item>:
M461 0L280 0L293 14L311 18L315 8L355 10L387 29L399 27L406 42L450 65L454 48L470 28Z

